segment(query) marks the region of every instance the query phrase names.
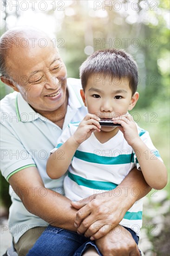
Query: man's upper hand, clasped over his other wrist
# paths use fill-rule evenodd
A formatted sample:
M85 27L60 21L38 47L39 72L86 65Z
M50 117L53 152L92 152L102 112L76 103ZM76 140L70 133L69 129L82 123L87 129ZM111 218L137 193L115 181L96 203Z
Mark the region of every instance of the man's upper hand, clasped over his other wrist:
M96 240L121 222L126 212L124 203L121 202L121 197L111 195L112 192L113 190L91 195L87 199L71 203L74 208L79 209L75 219L78 233Z

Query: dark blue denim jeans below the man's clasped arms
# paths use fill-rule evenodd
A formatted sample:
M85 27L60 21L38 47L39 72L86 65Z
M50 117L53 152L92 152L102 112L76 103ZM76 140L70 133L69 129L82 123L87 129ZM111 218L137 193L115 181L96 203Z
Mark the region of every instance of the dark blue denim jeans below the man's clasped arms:
M126 229L131 232L138 244L139 238L136 233L129 228ZM84 235L49 225L27 256L81 256L89 246L94 246L98 255L102 256L95 242Z

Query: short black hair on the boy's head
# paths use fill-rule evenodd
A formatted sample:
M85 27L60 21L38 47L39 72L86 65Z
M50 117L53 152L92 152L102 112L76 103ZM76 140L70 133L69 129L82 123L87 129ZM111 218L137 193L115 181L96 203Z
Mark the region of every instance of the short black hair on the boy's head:
M124 50L105 49L91 54L80 67L80 79L84 90L92 74L110 76L111 79L127 77L132 95L137 90L137 63Z

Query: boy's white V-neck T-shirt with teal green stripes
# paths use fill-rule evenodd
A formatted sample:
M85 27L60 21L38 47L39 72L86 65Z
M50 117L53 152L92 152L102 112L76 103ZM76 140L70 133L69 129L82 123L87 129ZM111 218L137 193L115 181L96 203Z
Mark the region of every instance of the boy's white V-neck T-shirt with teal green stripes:
M78 122L69 124L59 138L56 148L59 148L74 134L78 124ZM149 133L138 126L137 129L144 143L160 158ZM118 131L117 135L105 143L100 143L92 133L86 141L80 144L72 158L68 175L64 180L65 196L72 201L78 201L105 191L110 191L115 196L127 193L128 187L122 190L116 189L116 187L132 168L137 166L137 169L140 169L137 157L140 156L135 155L133 148L124 139L121 131ZM135 196L140 193L140 190L134 188L131 193ZM142 227L142 209L143 200L141 199L126 212L120 225L133 229L139 235Z

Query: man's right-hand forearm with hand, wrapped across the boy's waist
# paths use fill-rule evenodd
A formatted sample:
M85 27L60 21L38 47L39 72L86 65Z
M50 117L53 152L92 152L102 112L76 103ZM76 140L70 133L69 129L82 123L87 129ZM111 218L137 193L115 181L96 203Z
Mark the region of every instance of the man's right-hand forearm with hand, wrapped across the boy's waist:
M78 232L91 236L92 240L99 239L118 225L131 206L150 190L142 172L133 168L116 189L92 195L88 203L87 200L72 202L79 209L75 219Z

